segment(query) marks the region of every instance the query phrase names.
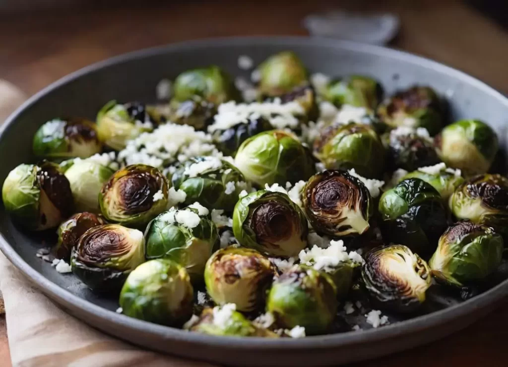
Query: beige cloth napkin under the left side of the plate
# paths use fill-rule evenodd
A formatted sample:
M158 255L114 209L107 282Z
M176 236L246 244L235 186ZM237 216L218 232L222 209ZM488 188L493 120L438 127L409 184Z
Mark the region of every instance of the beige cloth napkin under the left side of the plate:
M0 80L0 123L24 99L21 91ZM2 253L0 290L13 366L212 366L143 350L87 326L31 286Z

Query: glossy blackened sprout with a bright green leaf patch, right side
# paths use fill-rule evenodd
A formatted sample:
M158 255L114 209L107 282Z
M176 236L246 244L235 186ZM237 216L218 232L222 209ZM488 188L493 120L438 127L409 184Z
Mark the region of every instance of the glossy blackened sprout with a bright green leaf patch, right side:
M383 239L430 255L447 228L448 215L441 195L417 178L401 181L379 199Z

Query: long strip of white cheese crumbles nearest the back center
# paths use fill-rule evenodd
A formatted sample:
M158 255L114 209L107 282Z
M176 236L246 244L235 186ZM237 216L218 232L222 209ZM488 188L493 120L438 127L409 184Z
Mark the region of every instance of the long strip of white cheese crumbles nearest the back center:
M304 110L297 102L282 104L280 98L274 101L239 103L234 101L223 103L218 107L214 123L208 126L208 132L226 130L239 123L247 123L249 119L265 117L274 128L297 127L298 118Z

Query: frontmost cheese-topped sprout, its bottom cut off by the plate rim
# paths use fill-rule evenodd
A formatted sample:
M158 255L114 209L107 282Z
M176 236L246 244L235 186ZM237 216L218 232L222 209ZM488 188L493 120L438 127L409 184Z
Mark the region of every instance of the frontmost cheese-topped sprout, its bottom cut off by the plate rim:
M204 309L196 323L190 327L190 331L228 337L278 338L276 333L254 325L235 311L234 306L229 304Z

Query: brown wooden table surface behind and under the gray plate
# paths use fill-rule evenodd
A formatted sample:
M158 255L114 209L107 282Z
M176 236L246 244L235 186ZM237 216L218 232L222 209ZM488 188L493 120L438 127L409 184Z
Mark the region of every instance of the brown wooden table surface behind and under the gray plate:
M198 2L165 8L74 9L0 16L0 79L33 94L91 62L143 47L204 37L305 35L305 15L342 6L396 12L402 29L394 47L455 66L508 93L508 36L458 2L245 3ZM5 322L0 322L0 330L0 360L6 365ZM449 338L358 366L507 365L507 340L508 300Z

